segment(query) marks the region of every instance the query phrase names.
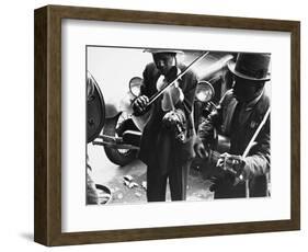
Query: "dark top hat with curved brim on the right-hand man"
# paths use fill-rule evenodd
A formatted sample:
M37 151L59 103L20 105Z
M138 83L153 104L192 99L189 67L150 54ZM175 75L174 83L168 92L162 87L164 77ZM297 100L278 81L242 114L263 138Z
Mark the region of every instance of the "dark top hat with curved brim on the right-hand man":
M247 80L269 81L271 79L269 67L271 61L270 54L241 53L237 61L229 61L229 70Z

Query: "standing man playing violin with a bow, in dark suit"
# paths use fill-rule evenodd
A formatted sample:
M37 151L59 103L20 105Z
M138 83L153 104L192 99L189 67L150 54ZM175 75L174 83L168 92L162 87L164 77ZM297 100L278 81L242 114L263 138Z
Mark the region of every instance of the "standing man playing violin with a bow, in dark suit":
M189 70L148 107L149 99L184 71L170 49L149 49L153 62L144 70L141 95L133 103L135 114L150 113L144 128L139 158L147 164L148 202L166 201L169 181L171 199L185 201L189 167L195 137L192 107L197 84Z

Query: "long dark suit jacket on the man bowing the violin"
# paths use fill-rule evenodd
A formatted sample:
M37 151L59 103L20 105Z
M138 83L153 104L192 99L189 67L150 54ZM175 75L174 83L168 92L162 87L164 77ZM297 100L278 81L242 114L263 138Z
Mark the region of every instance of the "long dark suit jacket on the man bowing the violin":
M185 66L178 66L181 71L185 69ZM160 77L155 64L147 65L144 71L144 84L141 87L141 94L151 98L157 92L157 80ZM151 107L151 115L148 123L145 126L141 137L139 158L148 167L157 167L162 172L166 172L166 165L179 165L182 162L187 161L194 157L193 140L195 137L194 123L192 117L192 108L195 96L195 89L197 84L197 78L194 72L187 71L180 80L179 87L184 94L184 101L175 104L175 108L181 110L185 115L186 124L186 141L184 144L179 142L175 139L171 139L169 147L166 147L167 138L170 136L163 133L162 117L166 112L161 110L161 99L158 99ZM173 164L170 161L174 160ZM164 164L163 164L164 163Z

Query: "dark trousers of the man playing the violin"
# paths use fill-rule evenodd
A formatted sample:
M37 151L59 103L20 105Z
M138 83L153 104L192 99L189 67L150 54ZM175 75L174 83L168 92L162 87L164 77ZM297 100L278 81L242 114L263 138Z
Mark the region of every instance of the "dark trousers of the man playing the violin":
M192 161L173 167L167 174L161 174L157 165L149 165L147 170L148 202L164 202L167 181L169 181L171 201L186 199L189 170Z

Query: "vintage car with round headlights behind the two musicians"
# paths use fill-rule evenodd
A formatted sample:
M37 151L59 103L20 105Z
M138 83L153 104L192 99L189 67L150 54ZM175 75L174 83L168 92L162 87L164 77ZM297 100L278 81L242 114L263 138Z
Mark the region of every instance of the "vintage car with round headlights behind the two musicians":
M199 51L185 53L184 64L189 65L187 62L193 61L197 55ZM197 66L194 66L193 70L201 80L197 84L194 102L196 129L201 121L212 110L215 110L221 95L231 87L231 79L226 66L232 58L231 54L213 51ZM90 72L88 76L90 81L87 81L87 84L88 82L92 83L88 90L93 94L92 100L88 99L88 142L103 146L106 157L113 163L126 165L137 157L142 128L147 121L147 118L134 116L132 108L132 101L140 93L142 79L140 77L132 78L126 94L115 103L104 102L99 83ZM96 98L96 102L93 96ZM102 102L99 102L100 99Z

